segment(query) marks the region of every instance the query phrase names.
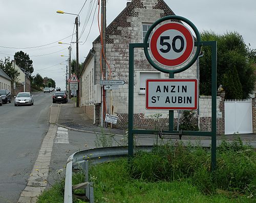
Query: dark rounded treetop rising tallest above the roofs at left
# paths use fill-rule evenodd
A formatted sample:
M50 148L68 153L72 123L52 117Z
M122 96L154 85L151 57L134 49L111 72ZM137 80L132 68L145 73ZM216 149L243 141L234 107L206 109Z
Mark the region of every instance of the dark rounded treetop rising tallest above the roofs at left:
M14 54L15 63L26 70L28 73L33 73L33 61L29 58L28 54L25 54L22 50Z

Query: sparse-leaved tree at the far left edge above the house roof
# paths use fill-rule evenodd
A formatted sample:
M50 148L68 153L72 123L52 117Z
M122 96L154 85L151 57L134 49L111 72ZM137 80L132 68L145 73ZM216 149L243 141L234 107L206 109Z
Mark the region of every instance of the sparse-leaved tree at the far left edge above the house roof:
M9 76L12 84L16 82L19 72L14 69L10 57L0 60L0 68Z

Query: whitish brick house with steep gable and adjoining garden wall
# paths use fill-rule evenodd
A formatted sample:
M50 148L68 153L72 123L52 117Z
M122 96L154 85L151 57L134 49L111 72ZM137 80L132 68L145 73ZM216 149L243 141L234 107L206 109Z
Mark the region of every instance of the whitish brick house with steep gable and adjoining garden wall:
M128 122L128 81L129 81L129 43L142 43L148 28L161 17L175 15L174 12L162 0L133 0L127 3L124 10L106 28L106 59L110 64L106 66L106 72L110 80L124 80L124 85L119 85L112 91L112 108L118 116L117 128L126 129ZM80 104L84 112L94 120L95 124L101 124L101 68L100 68L100 37L93 41L80 74ZM155 114L161 114L164 128L168 123L168 111L152 111L145 109L145 79L167 79L168 74L153 68L144 56L142 48L135 49L134 59L134 126L135 128L153 129L157 121L152 119ZM199 62L187 70L175 74L175 78L199 79ZM106 112L110 112L110 90L105 91ZM210 98L200 98L201 112L195 117L195 123L201 130L210 129ZM218 97L217 109L220 113L218 132L224 132L224 98ZM223 108L222 108L223 107ZM177 120L177 113L175 113Z

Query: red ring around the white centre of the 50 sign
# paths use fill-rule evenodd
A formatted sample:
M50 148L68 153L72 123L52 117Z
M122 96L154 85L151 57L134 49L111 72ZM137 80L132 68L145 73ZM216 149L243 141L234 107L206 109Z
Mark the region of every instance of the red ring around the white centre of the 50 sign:
M162 57L157 50L157 39L158 37L166 30L178 30L180 31L186 38L186 50L185 52L177 59L166 59ZM174 67L183 64L186 62L186 60L191 56L194 48L194 40L193 35L190 33L190 31L183 26L183 24L177 23L177 22L171 22L163 24L161 27L159 27L154 34L152 35L152 38L150 40L150 51L152 53L152 56L155 58L156 61L158 61L160 64ZM170 65L172 64L172 65Z

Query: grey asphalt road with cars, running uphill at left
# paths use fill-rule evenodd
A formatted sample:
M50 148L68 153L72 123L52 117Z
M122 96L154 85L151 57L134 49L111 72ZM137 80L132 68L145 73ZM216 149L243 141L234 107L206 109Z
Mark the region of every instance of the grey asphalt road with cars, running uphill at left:
M16 202L49 129L53 93L33 94L34 106L0 107L0 203Z

